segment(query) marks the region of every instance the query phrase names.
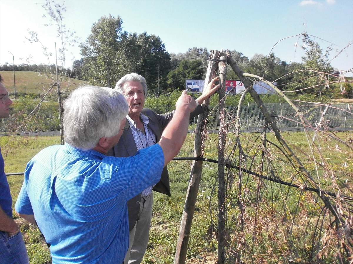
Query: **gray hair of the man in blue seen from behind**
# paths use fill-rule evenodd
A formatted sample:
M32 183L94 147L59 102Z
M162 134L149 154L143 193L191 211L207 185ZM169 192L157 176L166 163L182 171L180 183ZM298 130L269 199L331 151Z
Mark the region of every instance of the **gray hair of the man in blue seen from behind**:
M97 86L77 88L64 101L65 141L78 149L93 149L100 138L119 133L127 114L127 101L118 91Z

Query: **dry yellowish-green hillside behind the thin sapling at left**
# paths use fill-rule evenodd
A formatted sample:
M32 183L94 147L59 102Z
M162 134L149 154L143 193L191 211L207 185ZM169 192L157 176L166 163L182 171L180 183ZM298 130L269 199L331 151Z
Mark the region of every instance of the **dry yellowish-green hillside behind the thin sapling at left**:
M4 86L10 94L14 94L14 83L13 83L13 71L0 71L2 78L4 79ZM50 87L49 84L52 80L46 77L44 74L37 73L35 71L15 71L16 80L16 94L18 93L35 93L43 94ZM76 80L65 77L61 83L62 90L72 90L82 84L88 84L88 82ZM55 89L56 90L56 89Z

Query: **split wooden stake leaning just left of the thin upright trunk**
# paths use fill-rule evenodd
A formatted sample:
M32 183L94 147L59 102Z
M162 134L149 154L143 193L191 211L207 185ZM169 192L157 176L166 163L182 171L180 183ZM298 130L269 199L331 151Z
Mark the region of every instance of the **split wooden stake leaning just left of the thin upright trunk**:
M208 83L216 76L217 63L214 60L219 58L220 51L211 50L210 58L208 63L207 73L205 78L204 87L207 87ZM197 119L196 136L195 136L195 157L203 157L204 139L205 139L205 120L207 118L208 106L210 99L206 99L203 103L205 111L203 114L199 114ZM197 193L201 180L202 172L202 161L193 161L192 168L189 178L189 186L187 188L186 199L184 204L183 217L181 218L179 238L177 242L177 248L175 250L174 264L184 264L186 260L187 244L189 243L189 236L192 224L192 218L195 212L195 203Z

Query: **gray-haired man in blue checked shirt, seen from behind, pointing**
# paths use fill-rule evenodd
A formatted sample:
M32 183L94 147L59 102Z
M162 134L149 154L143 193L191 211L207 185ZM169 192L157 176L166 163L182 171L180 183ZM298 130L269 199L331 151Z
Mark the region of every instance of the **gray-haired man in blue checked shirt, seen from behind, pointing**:
M43 233L53 263L122 263L127 201L157 183L184 143L196 102L183 93L158 144L128 158L106 156L126 129L128 105L111 88L85 86L64 102L65 145L27 164L16 212Z

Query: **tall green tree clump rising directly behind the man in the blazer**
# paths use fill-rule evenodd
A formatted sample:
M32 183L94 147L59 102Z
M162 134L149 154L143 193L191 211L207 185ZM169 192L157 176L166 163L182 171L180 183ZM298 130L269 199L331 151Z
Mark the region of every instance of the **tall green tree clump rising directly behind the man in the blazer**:
M115 87L122 76L136 72L145 77L150 93L157 94L158 71L163 90L170 68L170 56L162 40L146 32L123 32L121 25L122 19L112 15L92 25L90 36L80 46L84 80L98 86Z

